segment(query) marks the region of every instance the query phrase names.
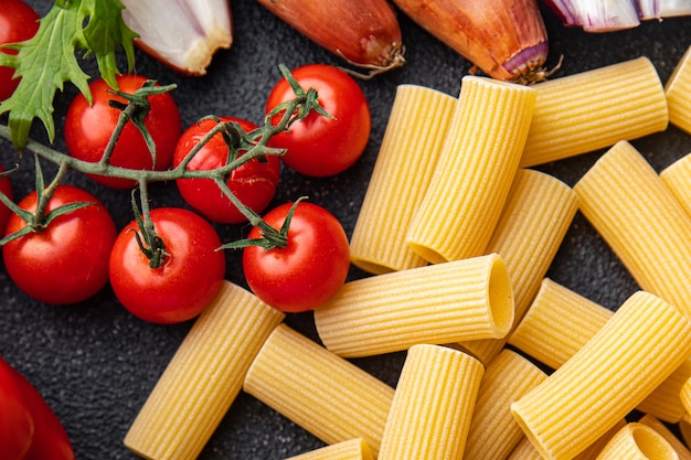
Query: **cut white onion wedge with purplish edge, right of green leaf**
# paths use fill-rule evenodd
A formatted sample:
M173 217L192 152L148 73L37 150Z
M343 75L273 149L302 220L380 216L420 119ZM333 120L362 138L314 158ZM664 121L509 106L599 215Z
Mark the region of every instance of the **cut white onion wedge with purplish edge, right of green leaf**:
M135 43L183 74L205 75L216 51L233 44L227 0L121 1L123 20L139 34Z

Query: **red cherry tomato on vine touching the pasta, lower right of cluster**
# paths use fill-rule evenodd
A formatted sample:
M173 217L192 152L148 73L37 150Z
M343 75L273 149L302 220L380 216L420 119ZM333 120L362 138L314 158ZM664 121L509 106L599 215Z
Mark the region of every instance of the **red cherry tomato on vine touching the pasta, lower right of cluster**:
M266 214L264 221L280 228L293 203ZM254 227L249 238L258 238ZM286 312L313 310L346 281L350 268L348 237L340 222L323 207L300 202L295 210L285 248L243 249L245 279L267 304Z

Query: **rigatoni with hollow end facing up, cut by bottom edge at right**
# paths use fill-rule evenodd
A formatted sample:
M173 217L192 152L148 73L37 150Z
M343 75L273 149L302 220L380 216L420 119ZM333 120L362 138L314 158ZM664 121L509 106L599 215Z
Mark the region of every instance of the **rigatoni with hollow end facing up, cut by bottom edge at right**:
M597 460L678 460L669 442L649 426L631 422L621 428Z

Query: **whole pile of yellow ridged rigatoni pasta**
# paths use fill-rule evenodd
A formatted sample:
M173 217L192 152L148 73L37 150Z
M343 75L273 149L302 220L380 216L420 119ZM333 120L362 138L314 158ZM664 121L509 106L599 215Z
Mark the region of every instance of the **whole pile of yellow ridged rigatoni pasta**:
M669 124L691 49L666 85L646 57L401 85L350 242L372 276L315 310L321 343L226 281L125 445L194 459L244 391L326 445L291 460L691 459L691 153L657 173L629 143ZM598 149L573 188L530 169ZM640 287L614 311L546 278L577 211ZM396 351L395 388L350 360Z

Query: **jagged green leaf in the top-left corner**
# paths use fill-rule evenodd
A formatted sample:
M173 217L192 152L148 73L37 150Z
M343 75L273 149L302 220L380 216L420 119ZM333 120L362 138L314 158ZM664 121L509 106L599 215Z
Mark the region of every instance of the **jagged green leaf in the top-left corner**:
M134 67L132 40L137 36L121 18L125 7L118 0L59 0L40 21L33 39L6 45L17 55L0 53L0 66L14 68L22 79L14 94L0 104L0 115L9 113L12 145L22 151L34 118L39 118L52 142L55 139L53 99L65 82L74 84L92 101L89 75L84 73L76 52L94 54L102 76L117 89L119 73L115 53L121 46Z

